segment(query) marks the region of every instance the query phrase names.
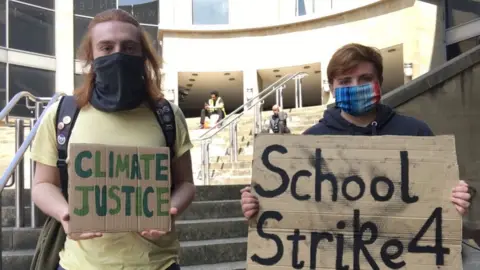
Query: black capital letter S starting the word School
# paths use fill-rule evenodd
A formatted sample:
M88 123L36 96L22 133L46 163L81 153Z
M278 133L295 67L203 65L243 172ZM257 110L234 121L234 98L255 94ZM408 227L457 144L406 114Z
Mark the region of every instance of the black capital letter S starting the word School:
M279 168L275 165L272 165L272 163L270 163L270 160L268 158L269 158L270 153L272 153L274 151L279 152L281 154L286 154L288 152L287 148L285 148L282 145L274 144L274 145L267 146L262 153L262 162L263 162L263 165L267 169L269 169L272 172L278 173L280 178L282 178L282 184L274 190L265 190L265 189L263 189L262 186L260 186L258 184L254 185L253 188L255 189L255 192L257 192L257 194L259 196L264 197L264 198L274 198L274 197L284 193L288 188L288 184L290 183L290 179L288 178L288 174L283 169L281 169L281 168Z

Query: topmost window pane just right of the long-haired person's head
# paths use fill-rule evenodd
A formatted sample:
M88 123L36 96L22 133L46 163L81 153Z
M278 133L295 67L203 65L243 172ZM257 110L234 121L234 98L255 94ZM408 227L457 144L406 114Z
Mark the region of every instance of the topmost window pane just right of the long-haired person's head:
M118 8L132 14L140 23L158 24L158 0L118 0Z

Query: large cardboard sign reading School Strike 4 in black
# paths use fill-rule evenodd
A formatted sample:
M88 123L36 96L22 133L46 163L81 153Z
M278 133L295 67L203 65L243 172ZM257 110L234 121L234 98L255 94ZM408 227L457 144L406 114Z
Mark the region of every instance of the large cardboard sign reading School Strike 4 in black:
M255 138L248 270L461 269L450 136Z

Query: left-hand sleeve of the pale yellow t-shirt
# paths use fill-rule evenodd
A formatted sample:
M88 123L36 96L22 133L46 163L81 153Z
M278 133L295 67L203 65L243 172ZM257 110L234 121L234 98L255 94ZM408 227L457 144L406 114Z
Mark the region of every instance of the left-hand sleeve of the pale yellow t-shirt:
M45 114L40 121L37 134L32 143L32 150L30 157L32 160L49 165L52 167L57 166L57 141L56 141L56 127L55 117L57 114L59 102L53 103L45 111Z

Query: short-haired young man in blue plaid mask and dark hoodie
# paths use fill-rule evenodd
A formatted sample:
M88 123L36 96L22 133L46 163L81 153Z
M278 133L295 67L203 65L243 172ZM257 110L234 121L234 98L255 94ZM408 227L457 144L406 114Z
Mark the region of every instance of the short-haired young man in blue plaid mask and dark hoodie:
M433 136L424 122L380 104L383 64L376 49L360 44L340 48L328 64L327 76L330 89L335 89L336 107L325 111L323 119L303 134ZM241 192L243 214L252 218L259 209L258 199L250 187ZM459 181L451 201L460 214L466 213L470 198L468 185Z

